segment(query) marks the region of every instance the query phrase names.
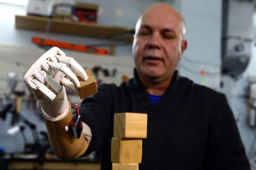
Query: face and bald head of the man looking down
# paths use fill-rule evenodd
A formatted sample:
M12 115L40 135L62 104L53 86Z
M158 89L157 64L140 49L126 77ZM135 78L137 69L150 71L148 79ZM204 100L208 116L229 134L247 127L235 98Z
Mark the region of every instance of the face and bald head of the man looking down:
M138 20L133 42L137 72L142 78L162 81L172 77L187 47L181 18L161 9L146 12Z

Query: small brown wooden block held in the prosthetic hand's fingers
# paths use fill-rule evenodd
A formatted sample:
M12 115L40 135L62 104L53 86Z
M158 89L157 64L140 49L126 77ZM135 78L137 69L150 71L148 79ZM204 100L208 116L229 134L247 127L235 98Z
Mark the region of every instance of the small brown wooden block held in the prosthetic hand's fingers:
M97 84L96 84L96 80L95 78L93 77L93 74L92 72L90 72L90 69L89 68L86 68L85 69L85 72L88 76L88 79L85 81L81 78L81 76L79 74L76 73L76 77L79 79L80 81L80 86L79 88L77 89L77 92L79 92L79 97L81 99L85 98L85 97L88 97L88 96L91 96L95 93L98 92L98 89L97 89Z

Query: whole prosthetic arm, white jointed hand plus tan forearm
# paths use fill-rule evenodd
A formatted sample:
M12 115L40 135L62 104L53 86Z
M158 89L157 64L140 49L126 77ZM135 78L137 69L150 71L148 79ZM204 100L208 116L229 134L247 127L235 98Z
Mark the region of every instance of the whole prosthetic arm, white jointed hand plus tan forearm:
M36 60L23 77L28 90L40 99L49 142L60 159L78 157L88 148L84 133L75 139L71 131L65 131L65 125L72 121L73 114L64 86L76 94L80 86L75 73L67 65L87 80L84 69L57 47L49 49Z

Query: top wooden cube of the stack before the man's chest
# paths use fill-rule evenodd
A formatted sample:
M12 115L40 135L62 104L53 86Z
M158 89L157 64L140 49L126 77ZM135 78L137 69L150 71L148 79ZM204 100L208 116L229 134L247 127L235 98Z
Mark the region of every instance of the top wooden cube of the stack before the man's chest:
M114 137L147 138L147 114L115 113Z

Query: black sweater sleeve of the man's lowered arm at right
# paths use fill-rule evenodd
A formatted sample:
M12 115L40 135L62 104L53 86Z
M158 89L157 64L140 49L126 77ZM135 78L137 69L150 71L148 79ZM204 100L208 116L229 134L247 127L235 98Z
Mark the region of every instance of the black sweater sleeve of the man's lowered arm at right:
M208 169L250 170L237 123L224 95L214 109L209 120Z

